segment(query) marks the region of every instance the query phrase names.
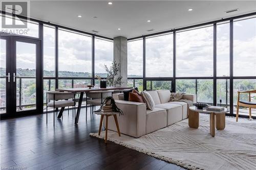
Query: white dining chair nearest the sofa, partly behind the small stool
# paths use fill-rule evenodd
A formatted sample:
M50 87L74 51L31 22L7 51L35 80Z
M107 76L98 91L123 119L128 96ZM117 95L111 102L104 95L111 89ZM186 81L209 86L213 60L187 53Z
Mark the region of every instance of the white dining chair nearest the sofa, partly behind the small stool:
M95 108L95 106L100 106L106 97L112 96L113 92L114 90L106 90L106 91L91 91L87 93L87 96L92 100L87 101L86 107L90 105L90 108L91 108L90 111L91 113L93 113L93 108ZM86 115L86 119L87 119L87 115Z

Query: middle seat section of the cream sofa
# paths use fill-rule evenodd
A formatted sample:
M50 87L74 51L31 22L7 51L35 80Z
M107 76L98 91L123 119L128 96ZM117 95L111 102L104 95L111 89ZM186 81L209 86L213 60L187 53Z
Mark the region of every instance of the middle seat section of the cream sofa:
M182 120L182 106L172 103L158 104L156 108L163 108L167 110L167 126Z

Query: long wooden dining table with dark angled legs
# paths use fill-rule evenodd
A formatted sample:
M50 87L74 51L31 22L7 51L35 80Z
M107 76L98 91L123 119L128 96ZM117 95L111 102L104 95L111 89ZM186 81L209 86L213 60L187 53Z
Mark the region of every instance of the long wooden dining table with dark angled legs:
M56 89L56 91L66 91L66 92L74 92L74 93L80 93L79 96L79 101L78 101L78 107L75 115L75 125L78 123L79 120L79 115L81 111L81 106L82 106L82 100L83 100L83 95L84 93L86 94L86 103L87 103L87 93L91 91L106 91L106 90L129 90L132 89L133 87L106 87L106 88L100 88L100 87L92 87L92 88L59 88ZM62 109L62 112L64 108ZM62 116L62 112L59 113L58 118ZM87 108L86 108L86 114L87 114Z

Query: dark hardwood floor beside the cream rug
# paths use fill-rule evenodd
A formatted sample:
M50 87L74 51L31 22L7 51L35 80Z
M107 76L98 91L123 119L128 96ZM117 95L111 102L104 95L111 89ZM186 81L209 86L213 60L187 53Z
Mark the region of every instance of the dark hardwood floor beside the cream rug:
M175 164L90 137L98 132L100 116L88 120L81 109L74 125L72 111L55 119L53 113L1 120L1 169L184 169ZM57 117L57 113L55 113Z

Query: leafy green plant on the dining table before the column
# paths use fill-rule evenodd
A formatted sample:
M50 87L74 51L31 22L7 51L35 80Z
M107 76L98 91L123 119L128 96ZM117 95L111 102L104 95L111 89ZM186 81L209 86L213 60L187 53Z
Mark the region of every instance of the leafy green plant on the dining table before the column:
M118 76L119 64L116 61L113 61L110 67L105 65L105 70L108 86L117 86L123 83L122 77Z

